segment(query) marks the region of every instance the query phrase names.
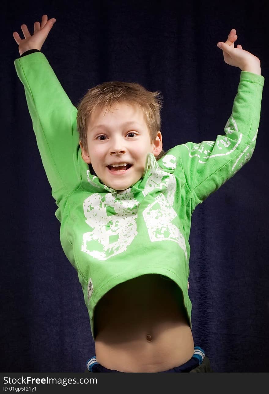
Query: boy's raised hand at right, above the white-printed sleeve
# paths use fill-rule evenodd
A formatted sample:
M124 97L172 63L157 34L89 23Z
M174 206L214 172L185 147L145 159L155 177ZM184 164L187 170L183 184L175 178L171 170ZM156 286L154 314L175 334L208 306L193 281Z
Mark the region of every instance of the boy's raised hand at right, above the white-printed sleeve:
M241 45L234 48L234 42L237 40L236 30L232 29L225 43L219 41L217 46L223 50L223 58L225 63L230 66L239 67L242 71L257 71L260 68L260 59L252 55L250 52L242 49ZM221 44L221 46L219 46ZM252 72L252 71L251 71Z

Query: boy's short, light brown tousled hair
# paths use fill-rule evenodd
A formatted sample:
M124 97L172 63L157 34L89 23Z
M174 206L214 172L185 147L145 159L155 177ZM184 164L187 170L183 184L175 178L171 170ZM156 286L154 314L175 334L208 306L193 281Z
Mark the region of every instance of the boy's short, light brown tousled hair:
M160 131L162 108L162 95L160 92L150 92L142 85L134 82L104 82L92 87L77 105L77 130L79 140L87 149L87 126L90 114L96 108L111 109L114 104L127 102L138 106L144 113L151 143L155 141ZM165 154L164 150L156 157L156 160Z

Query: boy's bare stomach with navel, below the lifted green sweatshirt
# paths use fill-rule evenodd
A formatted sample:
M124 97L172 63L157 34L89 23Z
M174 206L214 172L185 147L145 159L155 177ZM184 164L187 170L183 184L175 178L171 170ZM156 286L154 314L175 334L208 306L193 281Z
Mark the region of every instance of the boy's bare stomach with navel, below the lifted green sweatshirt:
M181 290L147 274L123 282L94 312L96 360L121 372L161 372L188 361L193 336Z

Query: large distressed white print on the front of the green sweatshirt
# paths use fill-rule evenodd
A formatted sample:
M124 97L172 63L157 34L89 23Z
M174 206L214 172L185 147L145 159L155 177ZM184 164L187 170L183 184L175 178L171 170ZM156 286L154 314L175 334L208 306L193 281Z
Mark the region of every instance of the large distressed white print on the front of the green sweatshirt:
M175 168L176 158L173 155L169 156L165 160L165 166ZM152 166L151 170L142 193L144 196L153 190L160 193L154 203L149 204L143 212L149 238L151 242L163 240L177 242L187 258L184 236L171 223L177 216L173 209L175 177L162 171L158 165L155 168ZM137 235L136 219L140 204L130 190L131 188L105 195L93 193L85 199L83 210L86 223L91 230L83 234L81 251L98 260L107 260L126 251Z

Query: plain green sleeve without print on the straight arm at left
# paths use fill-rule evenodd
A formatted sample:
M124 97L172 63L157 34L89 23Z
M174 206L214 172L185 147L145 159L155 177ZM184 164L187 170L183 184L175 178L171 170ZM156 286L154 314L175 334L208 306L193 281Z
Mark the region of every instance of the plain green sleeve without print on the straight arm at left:
M77 109L42 52L14 62L24 85L33 130L56 204L78 184Z

